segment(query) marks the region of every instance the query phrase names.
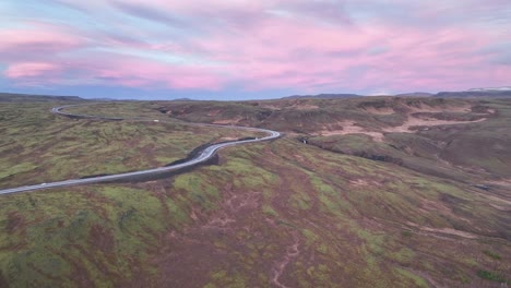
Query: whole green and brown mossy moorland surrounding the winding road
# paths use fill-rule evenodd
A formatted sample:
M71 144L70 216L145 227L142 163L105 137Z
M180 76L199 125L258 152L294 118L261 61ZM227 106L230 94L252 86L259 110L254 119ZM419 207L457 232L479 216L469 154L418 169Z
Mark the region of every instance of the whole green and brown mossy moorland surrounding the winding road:
M8 100L9 99L9 100ZM511 99L0 97L0 287L506 287ZM71 119L76 115L148 122ZM188 123L233 125L233 129Z

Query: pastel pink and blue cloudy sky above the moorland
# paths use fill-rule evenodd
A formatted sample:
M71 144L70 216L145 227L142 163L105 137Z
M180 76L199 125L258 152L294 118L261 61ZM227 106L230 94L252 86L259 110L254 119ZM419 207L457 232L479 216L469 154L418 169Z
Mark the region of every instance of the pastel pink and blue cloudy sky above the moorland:
M510 0L1 0L0 92L255 99L511 85Z

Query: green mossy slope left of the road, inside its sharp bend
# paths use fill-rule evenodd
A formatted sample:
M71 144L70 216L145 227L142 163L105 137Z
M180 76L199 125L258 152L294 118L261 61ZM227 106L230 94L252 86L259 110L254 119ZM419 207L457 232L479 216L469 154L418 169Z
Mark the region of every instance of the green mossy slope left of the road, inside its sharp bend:
M88 107L88 112L117 116L119 105L122 104L74 107L69 111L84 112ZM71 120L49 113L54 106L0 106L0 188L154 168L183 158L194 147L223 136L249 135L171 121ZM128 111L124 113L129 113L130 104L123 106Z

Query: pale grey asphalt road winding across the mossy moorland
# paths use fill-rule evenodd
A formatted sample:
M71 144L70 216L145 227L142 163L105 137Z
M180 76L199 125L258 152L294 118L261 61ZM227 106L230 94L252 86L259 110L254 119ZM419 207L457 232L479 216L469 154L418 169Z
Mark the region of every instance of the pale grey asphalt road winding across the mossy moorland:
M52 113L56 115L62 115L67 117L75 117L75 118L86 118L86 119L97 119L97 120L131 120L131 121L151 121L153 122L154 120L148 120L148 119L141 119L141 118L112 118L112 117L100 117L100 116L88 116L88 115L73 115L69 112L62 111L64 108L72 107L72 106L78 106L78 105L68 105L68 106L61 106L61 107L55 107L51 109ZM187 123L188 124L188 123ZM10 193L19 193L19 192L27 192L27 191L35 191L35 190L43 190L43 189L49 189L49 188L58 188L58 187L70 187L70 185L80 185L80 184L88 184L88 183L98 183L98 182L109 182L109 181L115 181L115 180L126 180L126 179L131 179L133 177L140 177L140 176L150 176L150 175L159 175L168 171L177 171L187 167L192 167L197 164L204 163L211 157L215 155L215 153L224 147L228 146L234 146L234 145L239 145L239 144L247 144L247 143L255 143L255 142L262 142L262 141L269 141L269 140L274 140L281 136L280 132L272 131L272 130L266 130L266 129L259 129L259 128L249 128L249 127L233 127L233 125L215 125L215 124L202 124L202 123L189 123L190 125L200 125L200 127L217 127L217 128L235 128L235 129L240 129L240 130L247 130L247 131L252 131L252 132L264 132L268 134L265 137L261 139L253 139L253 140L241 140L241 141L231 141L231 142L225 142L225 143L218 143L218 144L213 144L207 147L205 147L202 152L198 153L193 158L176 164L173 166L166 166L166 167L158 167L158 168L153 168L148 170L142 170L142 171L135 171L135 172L126 172L126 173L118 173L118 175L108 175L108 176L98 176L98 177L93 177L93 178L86 178L86 179L71 179L71 180L64 180L64 181L58 181L58 182L50 182L50 183L41 183L41 184L36 184L36 185L25 185L25 187L19 187L19 188L11 188L11 189L4 189L0 190L0 194L10 194Z

